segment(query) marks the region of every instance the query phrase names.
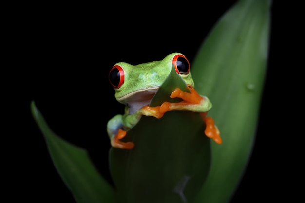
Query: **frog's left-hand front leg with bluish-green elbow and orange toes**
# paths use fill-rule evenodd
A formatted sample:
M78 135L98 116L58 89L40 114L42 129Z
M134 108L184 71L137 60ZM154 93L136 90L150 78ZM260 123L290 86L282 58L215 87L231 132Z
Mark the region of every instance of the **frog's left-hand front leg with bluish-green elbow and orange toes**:
M142 115L161 118L164 113L159 111L160 106L149 107L144 106L134 114L116 115L107 124L107 132L111 140L111 146L121 149L132 149L133 142L120 141L126 135L126 130L133 127L141 118Z

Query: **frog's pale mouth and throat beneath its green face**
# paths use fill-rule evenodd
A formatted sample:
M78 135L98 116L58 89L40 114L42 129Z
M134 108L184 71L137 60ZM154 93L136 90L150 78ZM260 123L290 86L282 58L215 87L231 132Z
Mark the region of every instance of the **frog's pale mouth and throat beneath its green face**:
M117 101L127 105L129 107L129 114L133 114L143 106L149 105L159 88L160 86L137 90L117 98Z

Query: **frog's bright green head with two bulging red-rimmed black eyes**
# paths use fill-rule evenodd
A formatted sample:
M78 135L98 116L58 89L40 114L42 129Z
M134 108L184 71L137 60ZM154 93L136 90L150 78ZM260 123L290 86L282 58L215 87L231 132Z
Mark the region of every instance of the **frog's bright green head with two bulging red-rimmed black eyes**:
M153 95L165 81L175 67L177 74L187 84L194 86L190 73L188 59L180 53L172 53L161 61L153 61L139 65L116 63L110 70L109 80L115 89L115 98L118 102L136 111L148 105ZM133 106L136 106L133 108Z

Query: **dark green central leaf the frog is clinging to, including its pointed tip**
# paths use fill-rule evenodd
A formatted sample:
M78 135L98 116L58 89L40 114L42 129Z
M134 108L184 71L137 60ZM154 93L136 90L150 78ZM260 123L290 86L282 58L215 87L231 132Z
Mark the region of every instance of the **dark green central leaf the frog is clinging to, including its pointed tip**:
M172 69L152 99L153 106L177 87L187 90ZM161 119L142 116L124 141L132 150L110 149L110 169L118 203L193 202L210 168L210 139L199 113L170 111Z

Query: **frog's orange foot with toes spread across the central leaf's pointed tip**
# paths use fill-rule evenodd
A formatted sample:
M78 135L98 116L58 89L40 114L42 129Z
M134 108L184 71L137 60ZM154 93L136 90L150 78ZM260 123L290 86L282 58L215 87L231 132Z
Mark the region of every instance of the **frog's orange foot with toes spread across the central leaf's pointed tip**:
M197 109L196 107L201 106L202 100L204 100L203 97L198 94L198 92L193 88L193 86L188 85L188 88L191 93L189 92L183 92L180 88L176 88L172 94L171 98L181 98L183 101L171 103L171 102L164 102L160 106L160 112L165 113L167 111L172 110L190 110L190 109ZM193 108L192 108L193 107Z

